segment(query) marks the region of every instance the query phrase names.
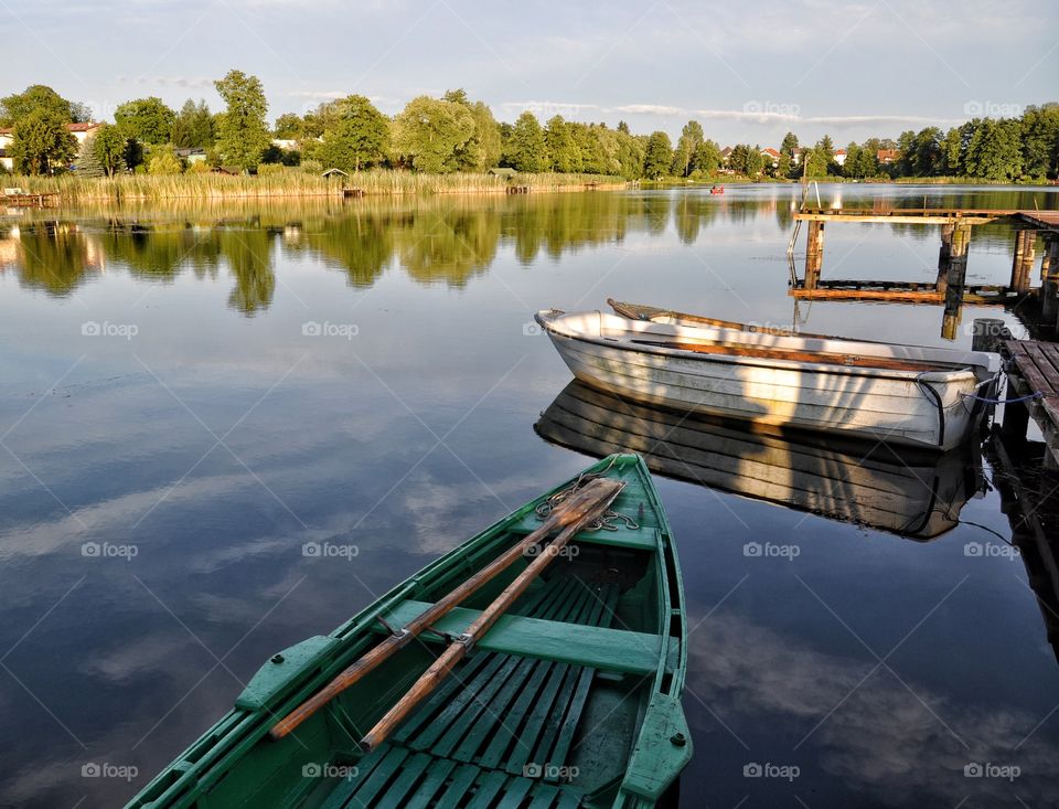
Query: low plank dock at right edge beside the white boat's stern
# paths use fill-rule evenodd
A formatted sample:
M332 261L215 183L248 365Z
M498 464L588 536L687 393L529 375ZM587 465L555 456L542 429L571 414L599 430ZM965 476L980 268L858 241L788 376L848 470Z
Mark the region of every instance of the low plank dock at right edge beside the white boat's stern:
M1005 340L1002 353L1007 360L1004 435L1025 438L1033 418L1045 438L1045 466L1059 469L1059 343Z

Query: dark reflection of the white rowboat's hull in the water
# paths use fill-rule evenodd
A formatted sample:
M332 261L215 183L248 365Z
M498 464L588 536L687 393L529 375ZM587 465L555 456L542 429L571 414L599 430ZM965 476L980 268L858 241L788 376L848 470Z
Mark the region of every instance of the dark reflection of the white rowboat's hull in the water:
M824 441L651 407L577 381L534 428L545 440L589 456L639 453L657 475L916 540L955 528L983 481L970 445L937 455Z

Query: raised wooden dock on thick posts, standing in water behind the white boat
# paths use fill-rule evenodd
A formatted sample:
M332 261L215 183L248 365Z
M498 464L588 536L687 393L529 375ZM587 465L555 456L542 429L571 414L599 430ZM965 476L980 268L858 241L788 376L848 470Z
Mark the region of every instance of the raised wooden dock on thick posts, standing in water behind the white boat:
M802 222L807 223L805 273L798 277L793 252ZM834 222L935 225L941 231L938 275L933 283L892 280L822 280L824 226ZM967 286L967 253L975 225L1006 222L1015 228L1010 280L1006 285ZM1033 286L1038 239L1040 287ZM1059 330L1059 211L951 207L806 207L794 213L788 247L792 260L790 295L802 300L891 301L944 305L942 337L954 339L964 304L1008 306L1036 297L1040 326Z

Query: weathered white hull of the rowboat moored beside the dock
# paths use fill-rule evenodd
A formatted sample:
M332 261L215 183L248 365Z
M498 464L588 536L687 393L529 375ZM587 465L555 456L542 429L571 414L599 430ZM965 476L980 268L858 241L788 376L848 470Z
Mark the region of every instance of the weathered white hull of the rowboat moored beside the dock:
M702 342L859 356L942 362L944 349L725 333L617 318L600 312L538 312L574 375L622 396L682 411L803 429L846 433L892 444L951 449L973 430L973 396L992 379L992 354L951 352L938 371L888 371L725 354L702 354L651 341ZM646 344L645 344L646 343ZM956 360L963 360L959 364Z

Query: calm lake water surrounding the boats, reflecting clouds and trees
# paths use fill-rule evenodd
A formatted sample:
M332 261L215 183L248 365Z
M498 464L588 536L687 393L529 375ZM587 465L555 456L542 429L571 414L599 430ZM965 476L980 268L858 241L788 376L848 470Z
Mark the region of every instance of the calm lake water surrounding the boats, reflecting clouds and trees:
M1040 189L821 193L1059 207ZM534 428L570 381L537 309L611 296L961 348L975 317L1025 333L988 308L965 309L948 343L940 307L795 307L799 196L0 217L0 805L128 799L271 653L587 466ZM835 225L826 238L825 279L937 273L935 228ZM1012 244L1006 226L975 228L969 283L1006 283ZM764 455L760 439L727 438L742 460ZM724 440L707 430L704 451ZM744 497L761 482L731 470L708 478L716 488L656 476L691 611L683 805L1055 806L1059 668L1023 562L991 533L1010 536L988 466L980 478L974 457L948 461L937 477L959 491L941 513L920 497L932 468L909 483L900 458L882 459L873 473L903 482L870 510L860 456L769 447L816 458L841 488L821 510L854 521L803 510L782 469L763 475L768 494L802 510ZM928 541L874 526L928 518L954 528ZM302 554L325 541L359 555ZM991 768L965 777L972 763ZM89 764L109 766L83 777ZM767 775L746 777L755 767Z

